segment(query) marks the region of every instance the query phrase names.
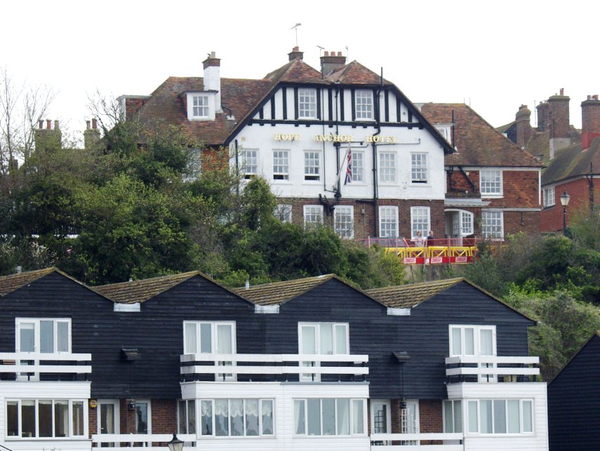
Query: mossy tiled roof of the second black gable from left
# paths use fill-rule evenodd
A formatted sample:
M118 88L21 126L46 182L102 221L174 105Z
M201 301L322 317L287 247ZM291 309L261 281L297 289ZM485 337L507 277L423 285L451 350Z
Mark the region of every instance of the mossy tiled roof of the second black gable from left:
M119 304L135 304L135 302L145 302L148 299L152 299L152 297L161 294L161 292L165 292L194 276L200 276L201 278L220 286L223 290L232 292L236 297L242 297L244 299L243 296L216 283L200 271L189 271L181 274L173 274L172 276L145 278L140 281L111 283L109 285L99 285L92 289L111 299L113 302ZM248 301L248 299L244 300Z

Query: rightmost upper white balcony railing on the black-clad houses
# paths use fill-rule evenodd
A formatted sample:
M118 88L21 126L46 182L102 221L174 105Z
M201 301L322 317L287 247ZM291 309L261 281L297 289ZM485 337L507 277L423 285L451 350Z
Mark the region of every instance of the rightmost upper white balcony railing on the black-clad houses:
M539 357L458 356L446 358L446 376L468 379L477 377L479 382L505 380L516 382L519 377L535 379L540 374ZM449 368L448 368L449 367Z

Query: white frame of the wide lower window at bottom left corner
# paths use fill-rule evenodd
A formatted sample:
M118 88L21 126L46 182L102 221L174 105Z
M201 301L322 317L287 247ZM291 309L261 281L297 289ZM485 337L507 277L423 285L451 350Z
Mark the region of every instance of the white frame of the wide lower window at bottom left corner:
M27 402L34 402L34 429L35 429L35 433L33 436L23 436L23 431L22 431L22 402L23 401L27 401ZM52 428L52 436L40 436L40 412L39 412L39 403L40 401L50 401L51 402L51 412L52 412L52 419L51 419L51 428ZM66 402L67 403L67 434L65 436L56 436L56 415L55 415L55 405L58 402ZM83 398L53 398L53 397L48 397L48 398L5 398L4 401L4 433L5 433L5 440L6 441L18 441L18 440L32 440L32 439L44 439L44 440L68 440L69 438L87 438L88 437L88 400L87 399L83 399ZM8 403L17 403L17 433L18 435L16 436L9 436L8 435ZM73 408L73 404L74 403L79 403L82 405L82 412L83 412L83 419L82 419L82 426L83 426L83 434L82 435L75 435L74 434L74 428L73 428L73 420L74 420L74 408Z

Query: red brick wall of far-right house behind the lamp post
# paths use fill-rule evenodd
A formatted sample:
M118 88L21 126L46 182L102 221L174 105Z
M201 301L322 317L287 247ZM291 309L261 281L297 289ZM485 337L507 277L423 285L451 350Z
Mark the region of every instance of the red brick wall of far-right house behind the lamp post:
M567 207L567 227L573 216L589 213L589 182L585 177L571 180L554 187L554 206L544 208L540 214L540 230L562 232L563 206L560 196L564 191L571 196ZM600 179L594 179L594 203L600 205Z

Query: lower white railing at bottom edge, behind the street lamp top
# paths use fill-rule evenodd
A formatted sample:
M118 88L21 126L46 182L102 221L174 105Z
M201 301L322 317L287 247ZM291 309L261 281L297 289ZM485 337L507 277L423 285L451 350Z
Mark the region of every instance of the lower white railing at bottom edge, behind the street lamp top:
M166 443L173 438L172 433L102 433L92 436L92 446L102 447L102 451L111 451L123 447L152 447L153 451L169 451ZM196 441L196 434L178 433L183 440L184 449Z

